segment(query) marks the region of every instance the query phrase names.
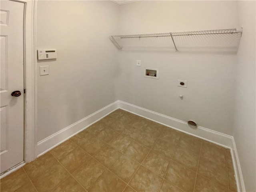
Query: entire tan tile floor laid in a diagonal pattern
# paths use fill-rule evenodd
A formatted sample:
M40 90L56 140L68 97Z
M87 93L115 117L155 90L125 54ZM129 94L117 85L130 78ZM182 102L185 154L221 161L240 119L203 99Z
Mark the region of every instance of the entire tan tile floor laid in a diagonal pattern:
M236 192L230 150L116 110L1 179L1 192Z

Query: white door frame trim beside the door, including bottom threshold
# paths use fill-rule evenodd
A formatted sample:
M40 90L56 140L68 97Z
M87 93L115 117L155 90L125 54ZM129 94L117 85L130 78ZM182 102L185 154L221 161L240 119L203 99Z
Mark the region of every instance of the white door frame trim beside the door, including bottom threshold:
M24 162L14 166L0 178L36 159L37 153L37 0L11 0L24 3Z

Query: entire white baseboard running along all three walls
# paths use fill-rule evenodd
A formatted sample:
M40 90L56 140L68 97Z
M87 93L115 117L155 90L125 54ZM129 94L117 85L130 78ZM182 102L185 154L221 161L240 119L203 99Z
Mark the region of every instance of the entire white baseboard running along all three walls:
M68 140L70 137L86 129L91 124L94 124L95 122L102 119L104 116L108 115L109 113L111 113L112 111L118 108L134 113L138 116L142 116L154 122L158 122L160 124L163 124L175 130L184 132L186 134L190 134L198 138L208 140L220 146L230 148L232 160L234 164L234 171L235 171L238 191L243 191L243 192L245 191L244 180L242 178L242 171L240 168L240 162L239 162L238 153L236 150L236 144L232 136L229 136L220 132L216 132L201 126L198 126L196 129L193 129L188 126L187 122L184 122L182 120L178 120L178 119L175 119L175 118L172 118L172 117L169 117L145 108L141 108L139 106L135 106L133 104L129 104L120 100L117 100L116 102L94 112L93 114L83 118L82 120L38 142L37 156L39 157L42 154L48 152L52 148Z

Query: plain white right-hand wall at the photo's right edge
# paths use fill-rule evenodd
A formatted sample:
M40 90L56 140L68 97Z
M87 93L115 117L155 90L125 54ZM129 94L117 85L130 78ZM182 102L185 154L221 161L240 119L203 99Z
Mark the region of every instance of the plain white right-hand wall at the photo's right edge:
M244 32L238 50L234 139L248 192L256 191L255 6L255 1L238 1L238 20Z

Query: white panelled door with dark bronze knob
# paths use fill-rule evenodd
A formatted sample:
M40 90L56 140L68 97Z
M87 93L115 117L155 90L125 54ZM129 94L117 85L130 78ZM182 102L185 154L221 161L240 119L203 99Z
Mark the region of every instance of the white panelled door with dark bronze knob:
M0 1L0 172L24 160L24 3ZM20 91L21 95L12 92Z

